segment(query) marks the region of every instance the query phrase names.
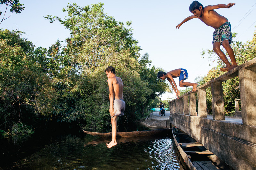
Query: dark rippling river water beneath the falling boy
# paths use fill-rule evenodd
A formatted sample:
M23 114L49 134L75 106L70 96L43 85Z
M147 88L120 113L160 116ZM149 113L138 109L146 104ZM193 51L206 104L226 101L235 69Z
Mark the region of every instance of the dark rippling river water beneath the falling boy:
M169 135L110 139L82 133L0 139L0 170L184 169Z

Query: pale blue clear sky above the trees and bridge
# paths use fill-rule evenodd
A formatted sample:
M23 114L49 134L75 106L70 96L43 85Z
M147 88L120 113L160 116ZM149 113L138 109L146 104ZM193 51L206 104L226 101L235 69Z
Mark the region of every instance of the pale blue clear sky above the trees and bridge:
M139 46L142 48L140 54L148 53L152 65L166 71L186 69L189 82L193 82L199 75L206 75L213 66L216 66L215 63L209 66L207 55L201 57L202 49L212 49L214 31L212 27L194 18L176 29L181 21L192 15L189 11L192 0L175 2L171 0L20 0L26 9L21 14L12 14L1 23L0 28L25 32L24 37L32 41L36 48L39 46L48 48L57 39L64 44L65 39L69 37L69 30L59 22L49 23L49 20L45 20L43 16L49 14L64 18L66 13L62 12L62 9L68 5L68 2L74 2L79 6L102 2L105 4L105 13L113 16L116 21L123 23L132 21L133 37L139 41ZM231 1L199 2L207 6L228 4ZM228 19L232 32L238 33L234 40L245 43L251 40L254 34L256 0L239 0L232 3L236 5L215 11ZM179 82L176 79L174 80L178 86ZM178 87L178 89L182 88ZM165 94L161 97L167 99L174 96L175 94Z

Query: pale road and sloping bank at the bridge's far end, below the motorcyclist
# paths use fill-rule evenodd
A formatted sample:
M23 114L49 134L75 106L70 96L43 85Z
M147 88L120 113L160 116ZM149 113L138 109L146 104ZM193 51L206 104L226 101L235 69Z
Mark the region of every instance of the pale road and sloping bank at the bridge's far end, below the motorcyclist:
M166 111L165 113L165 116L161 116L159 115L159 111L154 111L148 116L148 118L145 121L141 122L141 124L152 129L168 129L170 128L170 112Z

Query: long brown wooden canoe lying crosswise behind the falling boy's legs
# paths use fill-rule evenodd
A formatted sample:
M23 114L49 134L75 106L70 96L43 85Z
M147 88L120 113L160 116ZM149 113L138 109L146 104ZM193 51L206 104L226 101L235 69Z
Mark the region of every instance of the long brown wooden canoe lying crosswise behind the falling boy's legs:
M156 129L156 130L142 130L142 131L132 131L132 132L117 132L116 137L139 137L139 136L152 136L160 135L164 133L171 132L172 129ZM112 132L100 133L100 132L89 132L83 130L84 133L99 136L99 137L112 137Z

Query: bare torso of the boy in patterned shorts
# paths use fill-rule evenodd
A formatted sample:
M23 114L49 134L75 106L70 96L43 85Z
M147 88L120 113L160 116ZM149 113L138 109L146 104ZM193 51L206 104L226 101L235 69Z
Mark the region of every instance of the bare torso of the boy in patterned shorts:
M199 18L207 26L211 26L214 29L218 29L222 24L224 24L225 22L228 22L227 18L218 14L216 11L214 10L208 11L207 6L202 9L202 15L196 16L196 18Z

